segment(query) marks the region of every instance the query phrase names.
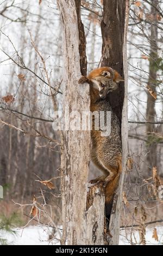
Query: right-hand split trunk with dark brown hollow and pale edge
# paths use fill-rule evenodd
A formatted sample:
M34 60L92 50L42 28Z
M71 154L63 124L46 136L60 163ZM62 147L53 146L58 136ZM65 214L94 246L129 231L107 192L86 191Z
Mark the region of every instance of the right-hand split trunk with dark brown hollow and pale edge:
M112 111L121 121L122 136L122 174L117 188L109 222L106 241L109 245L118 245L121 202L124 172L128 154L128 116L127 116L127 30L129 17L129 0L104 0L104 14L101 22L102 31L102 66L111 66L122 76L118 90L109 94Z

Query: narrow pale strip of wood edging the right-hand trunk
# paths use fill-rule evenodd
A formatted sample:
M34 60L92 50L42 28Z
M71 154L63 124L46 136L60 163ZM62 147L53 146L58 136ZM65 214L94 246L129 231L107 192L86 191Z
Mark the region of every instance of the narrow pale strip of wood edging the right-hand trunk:
M127 31L128 31L128 19L129 19L129 0L126 0L126 11L124 19L124 37L123 37L123 70L124 70L124 101L122 109L122 173L120 176L119 185L115 194L114 203L112 205L112 211L109 223L109 245L118 245L119 233L120 233L120 217L121 217L121 205L122 205L122 192L123 192L123 179L126 171L127 155L128 155L128 72L127 72Z

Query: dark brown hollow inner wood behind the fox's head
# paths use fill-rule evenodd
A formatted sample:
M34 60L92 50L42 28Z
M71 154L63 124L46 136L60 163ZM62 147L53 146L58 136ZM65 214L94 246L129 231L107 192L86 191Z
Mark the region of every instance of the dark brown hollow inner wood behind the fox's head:
M123 76L123 33L126 0L104 0L102 32L102 66L111 66ZM109 103L121 122L124 83L109 94Z

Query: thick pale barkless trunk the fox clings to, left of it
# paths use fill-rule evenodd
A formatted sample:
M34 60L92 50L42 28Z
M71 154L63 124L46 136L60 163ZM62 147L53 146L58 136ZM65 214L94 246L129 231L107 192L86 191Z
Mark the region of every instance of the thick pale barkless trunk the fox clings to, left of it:
M77 1L76 1L77 2ZM90 110L89 85L80 86L78 17L75 1L58 1L63 23L64 95L63 108ZM67 106L66 103L67 102ZM66 117L67 118L67 117ZM70 119L71 121L71 119ZM86 244L86 197L90 161L90 132L64 133L64 178L66 238L68 245Z

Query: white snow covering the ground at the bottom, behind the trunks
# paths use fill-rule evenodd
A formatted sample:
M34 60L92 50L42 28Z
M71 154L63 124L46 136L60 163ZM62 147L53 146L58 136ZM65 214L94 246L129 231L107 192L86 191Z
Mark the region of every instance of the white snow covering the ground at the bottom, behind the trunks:
M147 228L146 230L146 244L147 245L162 245L163 244L163 227L156 227L159 241L156 241L153 236L154 228ZM16 234L12 235L5 231L1 231L0 237L8 240L10 245L57 245L57 241L49 241L48 237L52 229L46 227L29 226L24 229L16 229ZM127 237L127 238L126 238ZM135 238L134 238L135 237ZM130 230L121 230L120 245L130 245ZM139 233L134 232L132 240L139 243Z

